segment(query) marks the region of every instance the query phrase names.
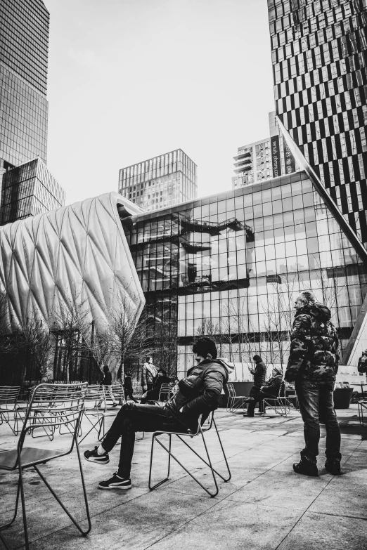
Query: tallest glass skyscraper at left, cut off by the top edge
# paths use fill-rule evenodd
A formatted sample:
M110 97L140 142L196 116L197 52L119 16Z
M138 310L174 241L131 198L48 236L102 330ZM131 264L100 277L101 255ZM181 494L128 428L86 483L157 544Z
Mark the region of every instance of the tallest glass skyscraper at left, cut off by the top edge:
M43 1L0 0L0 158L13 166L46 162L48 49Z

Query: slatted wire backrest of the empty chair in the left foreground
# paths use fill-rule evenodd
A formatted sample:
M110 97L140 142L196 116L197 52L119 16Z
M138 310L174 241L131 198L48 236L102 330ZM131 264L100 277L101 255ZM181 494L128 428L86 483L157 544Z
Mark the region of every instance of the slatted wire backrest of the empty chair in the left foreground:
M55 431L56 428L65 426L72 435L71 451L79 429L87 386L86 382L36 386L25 414L18 449L21 450L27 433L36 428Z

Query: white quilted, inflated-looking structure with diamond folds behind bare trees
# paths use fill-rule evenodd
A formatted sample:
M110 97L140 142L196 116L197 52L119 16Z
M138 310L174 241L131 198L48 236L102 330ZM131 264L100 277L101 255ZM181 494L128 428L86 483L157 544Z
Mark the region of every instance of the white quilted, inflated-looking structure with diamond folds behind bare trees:
M0 294L11 333L29 319L54 328L67 308L84 311L99 334L111 308L137 322L144 296L120 216L141 209L115 192L0 228ZM85 337L88 335L85 334Z

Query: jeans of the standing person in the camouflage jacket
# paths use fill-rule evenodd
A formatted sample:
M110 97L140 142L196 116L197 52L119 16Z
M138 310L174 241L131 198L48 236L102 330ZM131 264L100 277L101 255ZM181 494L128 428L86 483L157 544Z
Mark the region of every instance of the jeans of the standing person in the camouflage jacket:
M320 420L326 426L326 458L333 460L340 454L340 428L333 402L334 384L299 380L295 383L300 412L304 421L304 440L306 447L301 452L316 461L320 440Z

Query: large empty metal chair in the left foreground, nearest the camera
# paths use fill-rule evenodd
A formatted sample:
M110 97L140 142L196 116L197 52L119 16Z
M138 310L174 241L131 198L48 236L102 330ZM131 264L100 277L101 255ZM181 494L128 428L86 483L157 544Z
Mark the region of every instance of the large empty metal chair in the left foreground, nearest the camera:
M23 470L33 468L44 482L46 487L49 489L53 497L60 504L61 508L65 511L67 516L72 520L72 523L77 527L79 532L82 535L86 536L91 530L91 518L89 515L89 506L88 500L86 498L86 488L84 483L84 476L82 471L82 461L80 459L79 445L77 441L77 433L80 426L80 421L82 418L82 412L84 407L84 398L86 394L87 384L65 384L61 386L64 391L58 391L55 393L55 397L52 400L49 400L50 391L53 391L55 385L53 384L41 384L35 388L32 395L32 400L30 406L27 409L25 415L24 423L20 436L18 439L18 445L16 449L8 450L0 453L0 470L6 471L19 471L18 478L18 489L15 499L15 511L13 513L13 518L8 523L0 526L0 539L4 543L6 549L10 549L6 540L1 534L1 531L5 528L10 527L15 521L15 518L18 513L18 504L19 504L19 495L20 501L22 503L22 519L24 527L24 536L25 536L25 548L29 550L30 544L28 539L28 528L27 528L27 516L25 511L25 494L24 494L24 482L23 482ZM42 417L39 416L37 412L38 403L42 401L49 401L49 406L45 407L43 410ZM70 447L66 450L53 450L48 448L34 448L34 447L25 447L25 438L30 435L34 428L39 426L44 428L49 426L53 429L53 432L56 431L56 428L61 426L66 426L70 428L69 436L71 436ZM65 457L65 455L70 454L74 449L74 446L77 448L77 457L79 461L79 470L80 476L82 479L82 489L84 494L84 504L86 509L86 518L88 521L88 528L83 530L82 527L77 523L75 518L67 510L63 502L60 501L56 493L53 491L49 482L44 478L43 474L39 470L38 466L40 464L46 464L51 460Z

